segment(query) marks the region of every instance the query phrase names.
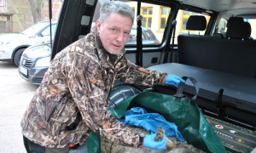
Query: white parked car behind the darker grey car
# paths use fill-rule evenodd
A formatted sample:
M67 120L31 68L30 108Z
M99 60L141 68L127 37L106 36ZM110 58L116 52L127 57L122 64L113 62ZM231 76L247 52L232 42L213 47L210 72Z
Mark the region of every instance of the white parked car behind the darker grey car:
M52 23L52 35L55 35L56 23ZM20 56L32 44L49 42L49 22L41 21L20 33L0 36L0 61L14 62L19 66Z

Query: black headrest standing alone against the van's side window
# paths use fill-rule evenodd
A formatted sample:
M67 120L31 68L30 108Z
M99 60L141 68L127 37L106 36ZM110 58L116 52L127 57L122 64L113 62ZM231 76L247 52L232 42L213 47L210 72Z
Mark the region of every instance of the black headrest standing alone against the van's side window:
M202 15L191 15L186 29L189 31L204 31L207 28L207 19Z

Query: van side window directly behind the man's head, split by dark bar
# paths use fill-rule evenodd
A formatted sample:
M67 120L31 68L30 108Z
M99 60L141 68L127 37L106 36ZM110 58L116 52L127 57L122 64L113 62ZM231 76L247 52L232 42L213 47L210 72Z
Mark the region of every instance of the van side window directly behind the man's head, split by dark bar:
M102 0L97 3L96 13L93 18L93 25L95 25L96 20L99 18L99 9L102 3L108 2L109 0ZM125 1L135 14L135 19L133 21L133 26L131 29L130 37L128 38L126 45L136 45L137 44L137 2ZM163 10L163 11L162 11ZM142 20L142 37L143 45L159 45L163 38L164 29L166 26L166 20L171 8L167 8L161 5L154 5L151 3L141 3L141 15ZM162 12L163 15L160 15ZM154 24L153 24L154 23ZM157 23L157 24L155 24Z

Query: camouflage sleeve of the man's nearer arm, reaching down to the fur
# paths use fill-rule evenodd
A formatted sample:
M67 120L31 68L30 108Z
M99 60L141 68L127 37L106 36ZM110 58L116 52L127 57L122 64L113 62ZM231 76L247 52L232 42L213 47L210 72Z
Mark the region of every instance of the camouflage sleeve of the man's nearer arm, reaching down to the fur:
M141 133L134 132L131 127L125 126L108 113L108 91L102 88L102 74L96 73L100 63L90 58L90 54L83 53L83 49L78 46L70 50L65 72L67 87L86 126L119 144L142 146Z

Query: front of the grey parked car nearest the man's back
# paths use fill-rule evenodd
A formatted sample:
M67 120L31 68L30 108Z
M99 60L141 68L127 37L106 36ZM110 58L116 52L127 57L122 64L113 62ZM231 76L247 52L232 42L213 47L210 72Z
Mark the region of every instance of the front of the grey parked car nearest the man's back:
M44 73L48 70L50 55L50 43L32 45L26 48L20 58L20 77L34 85L39 85L44 78Z

